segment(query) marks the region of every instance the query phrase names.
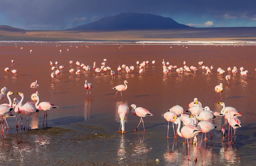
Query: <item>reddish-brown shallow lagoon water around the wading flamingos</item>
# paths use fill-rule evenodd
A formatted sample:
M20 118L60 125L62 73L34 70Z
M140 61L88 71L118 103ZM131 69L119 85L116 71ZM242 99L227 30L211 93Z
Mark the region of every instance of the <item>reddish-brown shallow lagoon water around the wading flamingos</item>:
M23 49L20 49L23 47ZM32 52L29 51L32 49ZM69 51L67 51L69 49ZM60 51L61 50L61 53ZM187 144L183 144L184 138L174 139L172 127L170 128L169 139L166 139L168 122L161 116L167 109L172 106L180 105L187 109L186 105L197 97L203 106L209 106L211 110L220 111L222 106L217 104L221 101L220 94L217 94L216 100L214 87L220 82L223 83L224 90L222 99L226 106L233 106L243 113L239 119L242 122L242 128L237 129L236 144L230 144L228 137L222 139L223 117L214 120L217 128L213 131L213 137L207 142L206 151L201 148L197 151L197 165L252 165L254 163L253 154L255 151L255 52L256 46L221 46L221 45L168 45L168 44L103 44L103 43L10 43L0 46L0 66L2 66L1 86L6 86L9 91L20 100L17 92L25 94L24 103L30 101L33 89L29 86L31 82L38 80L39 87L36 89L40 93L40 102L48 101L59 106L58 109L47 111L48 126L69 128L83 133L83 129L76 125L90 125L104 128L97 132L107 133L113 137L95 140L75 141L75 136L70 134L69 143L58 145L54 143L55 139L47 136L34 138L33 146L22 142L19 146L9 144L8 147L13 151L4 151L1 153L1 161L15 164L20 162L21 158L26 158L27 162L21 162L24 165L34 163L34 157L40 159L46 158L47 162L42 165L61 164L60 161L65 159L66 165L92 165L93 163L106 163L107 165L195 165L193 161L195 155L195 146L190 145L190 160L187 160ZM116 72L115 80L111 75L101 72L96 75L91 69L90 73L81 72L80 77L71 75L71 68L82 69L75 64L76 61L85 65L101 66L103 59L107 59L106 66L110 66ZM11 60L15 64L11 65ZM178 77L177 73L168 73L164 77L162 72L162 61L170 62L171 65L183 67L183 61L187 66L198 67L197 73L184 73ZM73 60L73 66L69 61ZM144 69L143 75L138 73L136 61L143 62L148 60L149 65ZM155 60L153 65L151 62ZM50 61L58 61L59 65L64 65L63 73L53 82L50 76L52 70ZM199 61L204 61L205 66L214 66L214 72L208 77L198 65ZM127 75L121 71L119 75L117 67L122 64L135 66L134 73ZM243 80L240 73L236 77L231 77L230 83L227 84L225 76L221 77L217 73L218 67L225 70L237 66L238 71L241 66L248 70L247 80ZM4 68L9 67L18 70L17 77L13 73L6 75ZM231 74L232 76L232 74ZM86 97L84 89L85 80L93 84L91 97ZM124 80L128 81L128 89L123 91L123 100L120 93L114 100L116 91L112 87L123 84ZM8 100L5 100L7 103ZM2 103L2 101L0 101ZM139 117L129 113L126 117L126 133L124 136L119 135L119 115L117 108L119 104L126 103L136 104L148 109L153 116L144 117L146 132L143 133L143 126L140 125L137 132L133 129L139 123ZM30 129L43 127L44 112L40 111L30 116ZM23 116L23 123L26 117ZM7 118L11 127L5 130L4 139L10 138L9 135L26 133L19 127L15 129L15 118ZM27 128L27 127L26 127ZM95 132L95 131L92 131ZM23 135L24 136L24 135ZM20 138L22 139L22 138ZM27 139L27 138L24 138ZM39 140L47 140L42 144ZM58 140L58 139L57 139ZM201 140L201 134L198 136L198 142ZM30 140L31 141L31 140ZM38 144L37 144L38 143ZM2 144L1 146L5 146ZM86 145L86 146L84 146ZM22 150L20 147L24 146ZM34 146L37 146L36 148ZM204 142L202 143L202 147ZM47 148L45 148L47 147ZM5 147L6 148L6 147ZM50 149L58 148L61 151L47 153ZM6 157L11 154L15 156L15 151L20 149L25 157L15 158L9 162ZM39 150L38 150L39 149ZM24 153L25 151L25 153ZM40 151L40 153L39 153ZM34 154L34 157L30 157ZM85 155L86 154L86 155ZM120 160L123 157L124 160ZM156 163L155 159L160 159ZM45 159L45 161L46 161ZM44 160L44 159L42 159ZM87 162L85 162L87 161ZM62 163L63 164L63 163Z

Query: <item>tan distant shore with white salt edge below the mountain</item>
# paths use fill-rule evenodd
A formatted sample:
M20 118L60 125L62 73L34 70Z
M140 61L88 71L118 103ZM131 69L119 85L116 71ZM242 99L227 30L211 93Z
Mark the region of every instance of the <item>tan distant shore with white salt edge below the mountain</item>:
M0 31L0 41L41 42L256 42L256 27L141 31ZM191 43L188 43L191 44ZM194 43L195 44L195 43ZM200 43L198 43L200 44ZM216 44L216 43L215 43Z

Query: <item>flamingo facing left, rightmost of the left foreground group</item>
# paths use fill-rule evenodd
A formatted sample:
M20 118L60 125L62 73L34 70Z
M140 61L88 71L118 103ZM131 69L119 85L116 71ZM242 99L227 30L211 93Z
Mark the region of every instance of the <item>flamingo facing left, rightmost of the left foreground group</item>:
M58 106L50 103L50 102L40 102L39 103L39 96L35 95L33 96L36 100L36 109L40 110L40 111L45 111L45 115L46 115L46 127L47 127L47 111L49 111L52 108L59 108ZM45 123L45 115L44 115L44 120L43 120L43 127L44 127L44 123Z

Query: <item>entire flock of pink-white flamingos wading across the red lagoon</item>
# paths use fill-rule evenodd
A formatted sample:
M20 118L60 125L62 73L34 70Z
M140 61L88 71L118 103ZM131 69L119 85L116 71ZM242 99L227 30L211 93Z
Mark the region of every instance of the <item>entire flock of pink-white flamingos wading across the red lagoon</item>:
M85 64L80 64L78 61L76 62L77 66L81 66L82 70L86 71L86 72L90 72L90 70L94 70L95 74L98 75L101 72L104 73L108 73L112 76L112 79L115 79L115 71L113 71L110 67L106 66L106 59L103 60L103 62L101 63L101 67L97 67L97 62L94 62L93 64L93 68L91 69L90 66L86 66ZM11 60L11 64L14 65L14 60ZM139 63L139 61L137 62L137 65L139 66L139 74L143 74L143 71L145 69L145 66L147 66L149 64L148 61L144 61L142 63ZM152 61L152 64L155 64L155 61ZM198 62L199 66L201 66L202 70L209 75L209 73L213 72L213 66L203 66L204 62ZM52 69L52 73L51 73L51 77L52 77L52 81L54 82L56 77L58 77L58 75L63 72L64 66L58 66L58 62L56 61L55 63L53 63L52 61L50 61L50 65L51 65L51 69ZM73 61L70 61L70 66L73 65ZM163 66L163 75L164 77L166 77L167 73L172 72L172 71L176 71L178 77L180 77L180 75L182 75L184 72L196 72L198 71L198 68L195 66L186 66L186 62L184 61L184 67L181 68L177 68L177 66L172 66L169 64L169 62L165 62L164 60L162 61L162 66ZM59 70L58 70L59 69ZM117 68L118 74L121 73L121 70L126 71L127 74L130 74L132 72L134 72L135 67L134 66L126 66L125 64L119 66ZM255 69L256 70L256 69ZM5 68L4 71L7 73L7 75L9 74L9 68ZM218 73L223 77L225 70L218 68L217 69ZM231 73L233 74L233 76L236 76L236 74L238 73L238 69L236 66L233 67L233 69L231 69L230 67L227 68L228 71L228 75L225 76L227 83L229 83L229 80L231 79ZM11 71L14 76L17 75L18 71L13 69ZM70 69L69 71L71 73L71 75L76 74L77 77L80 76L81 74L81 70L77 69L77 71L75 71L74 69ZM242 75L242 78L244 80L247 79L247 74L248 71L244 70L243 67L240 68L240 75ZM112 89L116 90L117 92L115 93L115 97L117 95L118 92L121 93L121 97L123 98L122 95L122 91L125 91L127 89L127 81L124 81L124 84L121 85L117 85L115 87L113 87ZM35 82L31 83L31 88L35 89L39 86L38 81L36 80ZM88 92L89 92L89 96L91 95L90 89L92 88L92 83L87 82L87 80L85 80L85 84L84 87L86 89L86 97L88 96ZM217 85L215 87L215 92L216 95L218 93L220 93L220 97L221 97L221 92L223 91L223 87L222 87L222 83L220 83L219 85ZM50 102L40 102L39 103L39 99L40 99L40 95L38 94L38 92L35 92L31 95L31 100L33 100L34 102L27 102L25 104L23 104L23 99L24 99L24 95L23 93L18 92L18 94L21 97L21 100L18 101L17 98L14 98L13 101L11 101L9 95L12 95L13 92L8 91L8 89L6 87L3 87L1 89L1 93L0 93L0 101L3 100L5 101L5 94L7 94L7 98L9 103L4 103L0 105L0 117L1 117L1 132L2 134L4 134L4 121L7 124L6 118L10 117L10 116L16 116L16 128L18 128L18 124L20 123L20 125L22 126L22 115L27 115L27 121L29 121L29 115L36 113L38 111L45 111L45 115L44 115L44 121L45 121L45 117L46 117L46 126L47 126L47 111L51 110L52 108L58 108L58 106L50 103ZM216 97L215 95L215 97ZM114 97L114 98L115 98ZM221 97L222 100L222 97ZM241 127L241 122L238 119L239 116L242 116L241 113L234 107L230 107L230 106L225 106L224 102L219 102L218 104L220 104L221 106L223 106L222 110L220 112L216 112L216 111L211 111L209 108L207 107L202 107L202 104L198 101L197 98L194 99L193 102L191 102L190 104L188 104L188 111L184 111L184 109L181 106L173 106L172 108L170 108L166 113L162 114L162 116L164 117L164 119L166 119L166 121L168 121L168 131L167 131L167 137L169 134L169 122L173 123L173 132L174 132L174 136L177 137L177 135L179 135L180 137L184 137L187 140L187 146L188 146L188 151L189 151L189 139L193 139L193 141L191 140L191 142L196 144L197 147L197 135L202 133L205 134L204 136L204 140L207 139L207 133L211 132L214 128L216 128L216 125L213 124L212 120L216 117L220 117L223 116L225 118L225 122L222 126L222 133L223 136L225 135L225 131L227 130L227 124L229 124L229 129L228 129L228 137L230 136L230 142L233 141L236 142L236 129ZM13 115L11 113L11 111L14 110L14 112L16 113L16 115ZM145 132L145 126L144 126L144 120L143 117L146 116L152 116L153 114L151 114L147 109L142 108L142 107L137 107L135 104L132 104L130 107L126 104L121 104L118 107L118 113L119 113L119 117L120 117L120 127L119 127L119 132L124 134L126 133L125 131L125 119L126 119L126 115L128 114L128 112L131 111L134 115L137 115L140 117L140 121L139 124L137 126L137 128L139 127L139 125L143 124L143 128L144 128L144 132ZM20 120L17 119L17 116L20 116ZM17 122L18 121L18 122ZM24 125L24 130L25 130L25 126L26 123ZM176 129L174 127L174 124L176 124ZM43 122L43 126L44 126L44 122ZM8 124L7 124L7 128L9 128ZM137 131L137 128L134 131ZM233 128L233 129L232 129ZM232 135L232 130L234 131L234 134ZM226 131L227 133L227 131ZM203 138L203 137L202 137ZM202 139L200 142L200 147L202 144ZM205 149L205 147L204 147ZM188 159L189 159L189 152L188 152ZM195 151L195 161L197 160L196 158L196 151Z

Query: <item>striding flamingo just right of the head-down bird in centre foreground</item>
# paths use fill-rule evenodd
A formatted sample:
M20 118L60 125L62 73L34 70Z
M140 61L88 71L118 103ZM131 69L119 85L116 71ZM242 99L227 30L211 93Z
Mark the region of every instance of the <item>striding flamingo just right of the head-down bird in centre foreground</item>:
M140 121L139 121L139 124L142 122L143 124L143 128L144 128L144 131L145 132L145 127L144 127L144 121L142 119L142 117L145 117L145 116L153 116L152 113L150 113L147 109L143 108L143 107L137 107L135 104L132 104L130 106L130 110L131 112L133 113L133 115L137 115L140 117ZM138 127L139 127L139 124L137 126L137 128L134 130L134 131L137 131Z

